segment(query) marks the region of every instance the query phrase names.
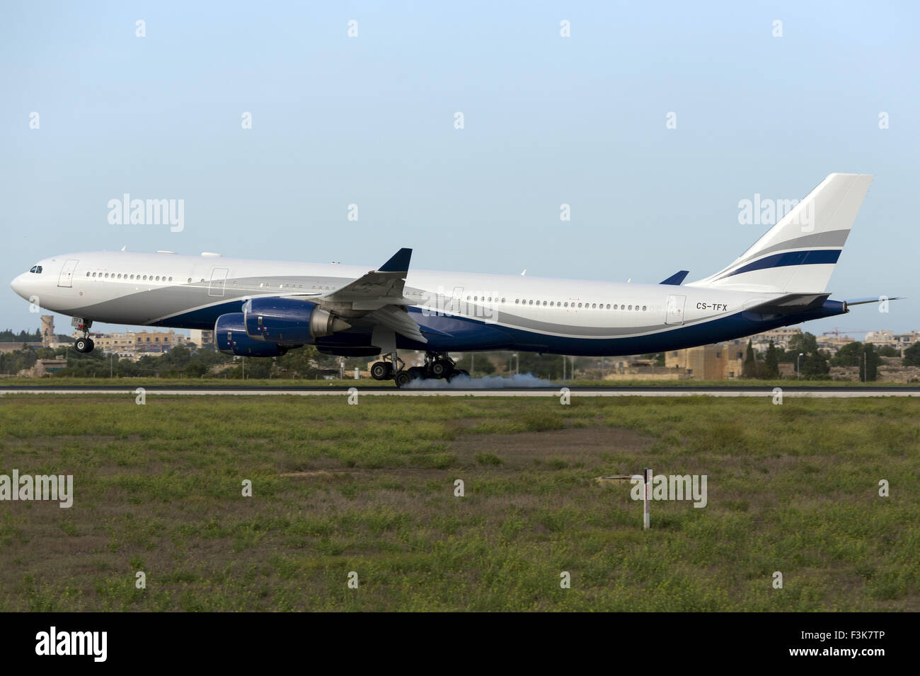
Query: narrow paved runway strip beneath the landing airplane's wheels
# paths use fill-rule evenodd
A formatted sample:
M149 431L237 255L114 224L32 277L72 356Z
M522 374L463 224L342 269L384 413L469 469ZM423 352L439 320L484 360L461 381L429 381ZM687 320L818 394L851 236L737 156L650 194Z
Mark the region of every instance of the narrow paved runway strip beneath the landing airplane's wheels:
M566 385L525 388L465 388L448 387L397 389L379 385L334 385L328 387L250 387L246 385L227 387L144 387L145 395L245 395L245 396L349 396L352 389L358 395L385 396L561 396ZM112 387L109 385L61 386L61 385L0 385L0 396L22 394L45 395L137 395L137 387ZM569 387L573 397L581 396L774 396L773 387L744 387L737 385L704 387ZM917 386L851 386L851 387L808 387L794 385L782 388L784 397L852 398L877 396L920 396Z

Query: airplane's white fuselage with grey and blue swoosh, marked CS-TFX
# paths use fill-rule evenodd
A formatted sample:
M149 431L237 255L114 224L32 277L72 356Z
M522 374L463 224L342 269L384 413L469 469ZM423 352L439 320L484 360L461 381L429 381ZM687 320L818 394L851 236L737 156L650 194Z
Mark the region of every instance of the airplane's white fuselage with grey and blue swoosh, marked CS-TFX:
M213 328L216 315L238 311L237 305L258 296L320 296L370 269L129 252L66 254L45 258L36 267L40 273L23 273L11 285L42 308L97 322L177 328ZM509 336L507 345L497 345L492 336L479 349L602 355L660 349L671 342L656 339L650 341L650 350L635 348L644 344L642 338L673 332L682 332L675 334L682 338L673 345L686 347L690 338L685 329L710 324L711 335L697 331L690 342L735 337L741 329L732 326L723 335L716 330L719 319L740 315L780 294L410 269L404 295L420 324L431 318L436 328L437 317L447 314L454 321L494 327ZM745 330L753 333L759 328ZM455 344L448 342L443 338L439 345L477 349L472 334Z

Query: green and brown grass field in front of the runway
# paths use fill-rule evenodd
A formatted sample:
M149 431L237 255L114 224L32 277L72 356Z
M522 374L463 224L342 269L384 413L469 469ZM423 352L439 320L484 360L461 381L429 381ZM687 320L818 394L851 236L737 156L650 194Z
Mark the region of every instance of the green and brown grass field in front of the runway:
M75 484L0 502L0 611L920 610L911 399L9 395L0 458ZM643 466L707 507L643 532Z

